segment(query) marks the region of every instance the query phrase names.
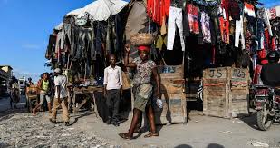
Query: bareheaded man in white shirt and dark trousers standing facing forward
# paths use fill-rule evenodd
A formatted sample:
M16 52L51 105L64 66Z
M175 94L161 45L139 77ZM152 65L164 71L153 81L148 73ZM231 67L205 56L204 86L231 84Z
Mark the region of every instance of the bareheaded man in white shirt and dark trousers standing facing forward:
M110 55L110 66L104 70L104 96L109 108L106 123L119 126L119 105L122 93L121 67L116 65L116 56Z

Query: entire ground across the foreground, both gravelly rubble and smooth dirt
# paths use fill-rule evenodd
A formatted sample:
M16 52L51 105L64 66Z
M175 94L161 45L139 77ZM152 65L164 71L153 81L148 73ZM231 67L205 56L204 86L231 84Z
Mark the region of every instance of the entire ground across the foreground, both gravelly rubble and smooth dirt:
M50 123L48 113L33 117L22 111L0 112L0 147L253 148L252 143L256 142L280 147L280 125L274 124L266 132L259 131L254 113L230 120L192 112L187 125L158 126L159 137L146 139L143 137L146 132L134 134L137 139L122 140L118 133L128 131L130 120L115 127L102 123L92 112L82 112L71 114L72 126L64 127L63 123ZM60 116L58 120L62 122Z

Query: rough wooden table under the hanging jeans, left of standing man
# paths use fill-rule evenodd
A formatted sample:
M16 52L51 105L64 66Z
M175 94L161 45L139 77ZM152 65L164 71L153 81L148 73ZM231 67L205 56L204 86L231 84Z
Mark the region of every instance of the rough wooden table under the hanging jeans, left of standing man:
M94 113L96 114L96 117L99 117L99 113L97 111L97 104L96 104L96 98L94 93L96 92L103 92L103 87L93 87L93 86L89 86L89 87L82 87L82 88L73 88L72 90L72 94L70 95L70 99L72 100L73 103L73 113L77 113L79 111L79 109L82 107L83 104L86 104L88 99L83 99L81 104L78 104L76 102L76 96L77 94L85 94L86 96L88 96L92 103L94 104ZM70 106L69 106L70 107Z

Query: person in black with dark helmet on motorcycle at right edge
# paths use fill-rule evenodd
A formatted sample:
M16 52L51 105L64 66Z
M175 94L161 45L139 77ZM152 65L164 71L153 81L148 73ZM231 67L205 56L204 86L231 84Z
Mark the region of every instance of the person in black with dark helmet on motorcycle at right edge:
M280 64L279 54L272 51L267 54L268 64L264 64L261 71L261 79L263 84L277 87L280 86Z

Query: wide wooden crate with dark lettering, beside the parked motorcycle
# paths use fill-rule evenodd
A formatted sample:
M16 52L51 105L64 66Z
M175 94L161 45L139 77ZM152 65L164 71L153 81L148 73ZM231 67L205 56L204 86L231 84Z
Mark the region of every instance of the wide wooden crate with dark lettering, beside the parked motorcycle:
M248 114L247 69L220 67L203 72L203 113L223 118Z

